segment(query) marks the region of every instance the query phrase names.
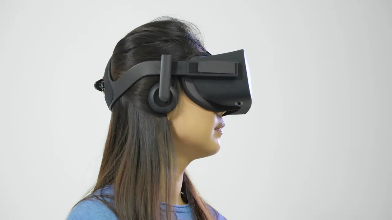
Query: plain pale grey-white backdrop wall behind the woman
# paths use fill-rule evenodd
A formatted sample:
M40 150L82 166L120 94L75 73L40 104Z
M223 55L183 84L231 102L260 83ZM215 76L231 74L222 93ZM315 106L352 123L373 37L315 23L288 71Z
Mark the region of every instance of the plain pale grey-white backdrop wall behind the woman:
M110 112L93 84L135 27L175 16L245 49L249 114L188 170L229 220L392 219L392 2L2 0L0 219L65 219Z

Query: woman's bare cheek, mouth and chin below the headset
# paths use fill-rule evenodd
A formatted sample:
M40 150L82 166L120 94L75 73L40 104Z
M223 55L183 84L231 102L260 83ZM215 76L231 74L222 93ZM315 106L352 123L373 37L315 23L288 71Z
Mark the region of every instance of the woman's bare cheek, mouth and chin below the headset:
M181 90L177 107L169 112L176 154L186 160L218 152L225 112L211 112L191 101Z

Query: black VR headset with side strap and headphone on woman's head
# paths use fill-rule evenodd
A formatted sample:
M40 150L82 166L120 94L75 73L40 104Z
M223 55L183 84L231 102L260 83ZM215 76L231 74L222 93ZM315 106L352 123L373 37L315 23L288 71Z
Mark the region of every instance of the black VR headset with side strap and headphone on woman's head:
M114 103L139 79L160 76L160 81L149 93L149 104L158 113L172 111L178 102L171 77L179 78L185 94L194 103L212 112L246 114L252 105L250 74L244 50L211 55L193 54L187 60L172 61L163 54L161 60L139 63L113 81L110 75L111 59L103 79L94 87L105 93L106 104L112 110Z

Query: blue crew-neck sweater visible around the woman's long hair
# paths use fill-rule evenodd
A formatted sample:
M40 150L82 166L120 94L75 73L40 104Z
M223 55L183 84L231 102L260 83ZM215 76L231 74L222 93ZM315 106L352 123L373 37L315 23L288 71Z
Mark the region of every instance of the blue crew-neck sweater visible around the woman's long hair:
M113 195L113 187L106 186L102 189L102 194ZM105 198L105 200L107 199ZM174 219L195 220L192 213L192 208L191 206L189 206L189 204L173 207L175 211ZM99 200L89 199L77 204L69 213L67 220L118 220L118 218L107 206L105 206ZM224 218L218 213L217 220L226 220L226 218Z

